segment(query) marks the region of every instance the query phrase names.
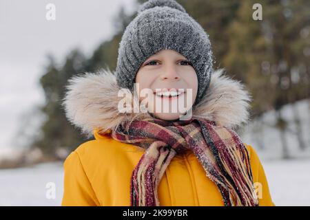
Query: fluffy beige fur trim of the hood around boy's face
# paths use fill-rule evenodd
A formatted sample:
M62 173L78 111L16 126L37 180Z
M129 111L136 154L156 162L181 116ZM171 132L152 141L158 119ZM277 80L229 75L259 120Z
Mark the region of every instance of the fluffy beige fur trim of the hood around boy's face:
M149 113L119 113L118 87L115 73L101 70L73 76L68 81L63 99L68 120L87 137L94 129L108 131L127 120L149 118ZM129 91L128 91L129 92ZM129 94L133 99L133 94ZM236 129L249 120L251 95L240 81L225 76L219 69L211 74L208 89L202 100L192 109L193 117L214 120L217 124Z

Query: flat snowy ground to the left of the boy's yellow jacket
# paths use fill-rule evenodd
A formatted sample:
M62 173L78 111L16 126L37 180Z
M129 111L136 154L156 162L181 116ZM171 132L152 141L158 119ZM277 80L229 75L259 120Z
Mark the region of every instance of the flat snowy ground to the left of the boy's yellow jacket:
M55 199L48 199L53 186ZM0 170L0 195L0 206L60 206L63 163Z

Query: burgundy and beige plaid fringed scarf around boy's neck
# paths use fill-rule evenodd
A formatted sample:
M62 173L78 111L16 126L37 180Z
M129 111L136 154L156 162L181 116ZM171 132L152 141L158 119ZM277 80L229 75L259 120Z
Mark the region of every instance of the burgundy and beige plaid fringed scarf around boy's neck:
M112 137L145 148L132 172L131 206L159 206L157 188L177 153L192 150L214 181L225 206L258 206L247 148L225 126L201 118L166 121L156 118L125 122Z

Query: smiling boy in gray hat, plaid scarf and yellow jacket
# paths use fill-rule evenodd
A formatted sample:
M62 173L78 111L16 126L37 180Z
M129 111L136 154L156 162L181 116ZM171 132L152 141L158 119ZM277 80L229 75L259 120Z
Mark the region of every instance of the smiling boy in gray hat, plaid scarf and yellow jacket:
M141 5L116 73L70 80L67 116L95 140L65 160L62 205L273 206L258 155L233 131L251 98L212 63L207 34L181 5Z

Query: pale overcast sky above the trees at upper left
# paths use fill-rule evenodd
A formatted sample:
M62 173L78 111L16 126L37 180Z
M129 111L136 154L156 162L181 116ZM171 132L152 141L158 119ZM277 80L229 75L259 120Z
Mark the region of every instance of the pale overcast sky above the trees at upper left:
M45 17L48 3L56 7L55 21ZM122 4L129 13L136 7L135 0L0 0L0 157L16 148L23 115L43 102L46 54L62 62L79 47L89 56L113 35Z

